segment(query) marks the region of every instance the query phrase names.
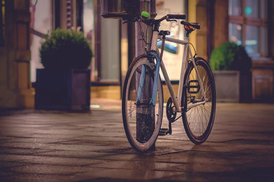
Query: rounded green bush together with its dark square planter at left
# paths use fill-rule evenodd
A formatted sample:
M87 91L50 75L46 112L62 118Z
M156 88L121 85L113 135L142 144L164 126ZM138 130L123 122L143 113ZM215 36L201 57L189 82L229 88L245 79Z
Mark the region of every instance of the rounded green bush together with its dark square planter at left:
M40 47L35 108L89 110L92 51L83 33L56 29Z

